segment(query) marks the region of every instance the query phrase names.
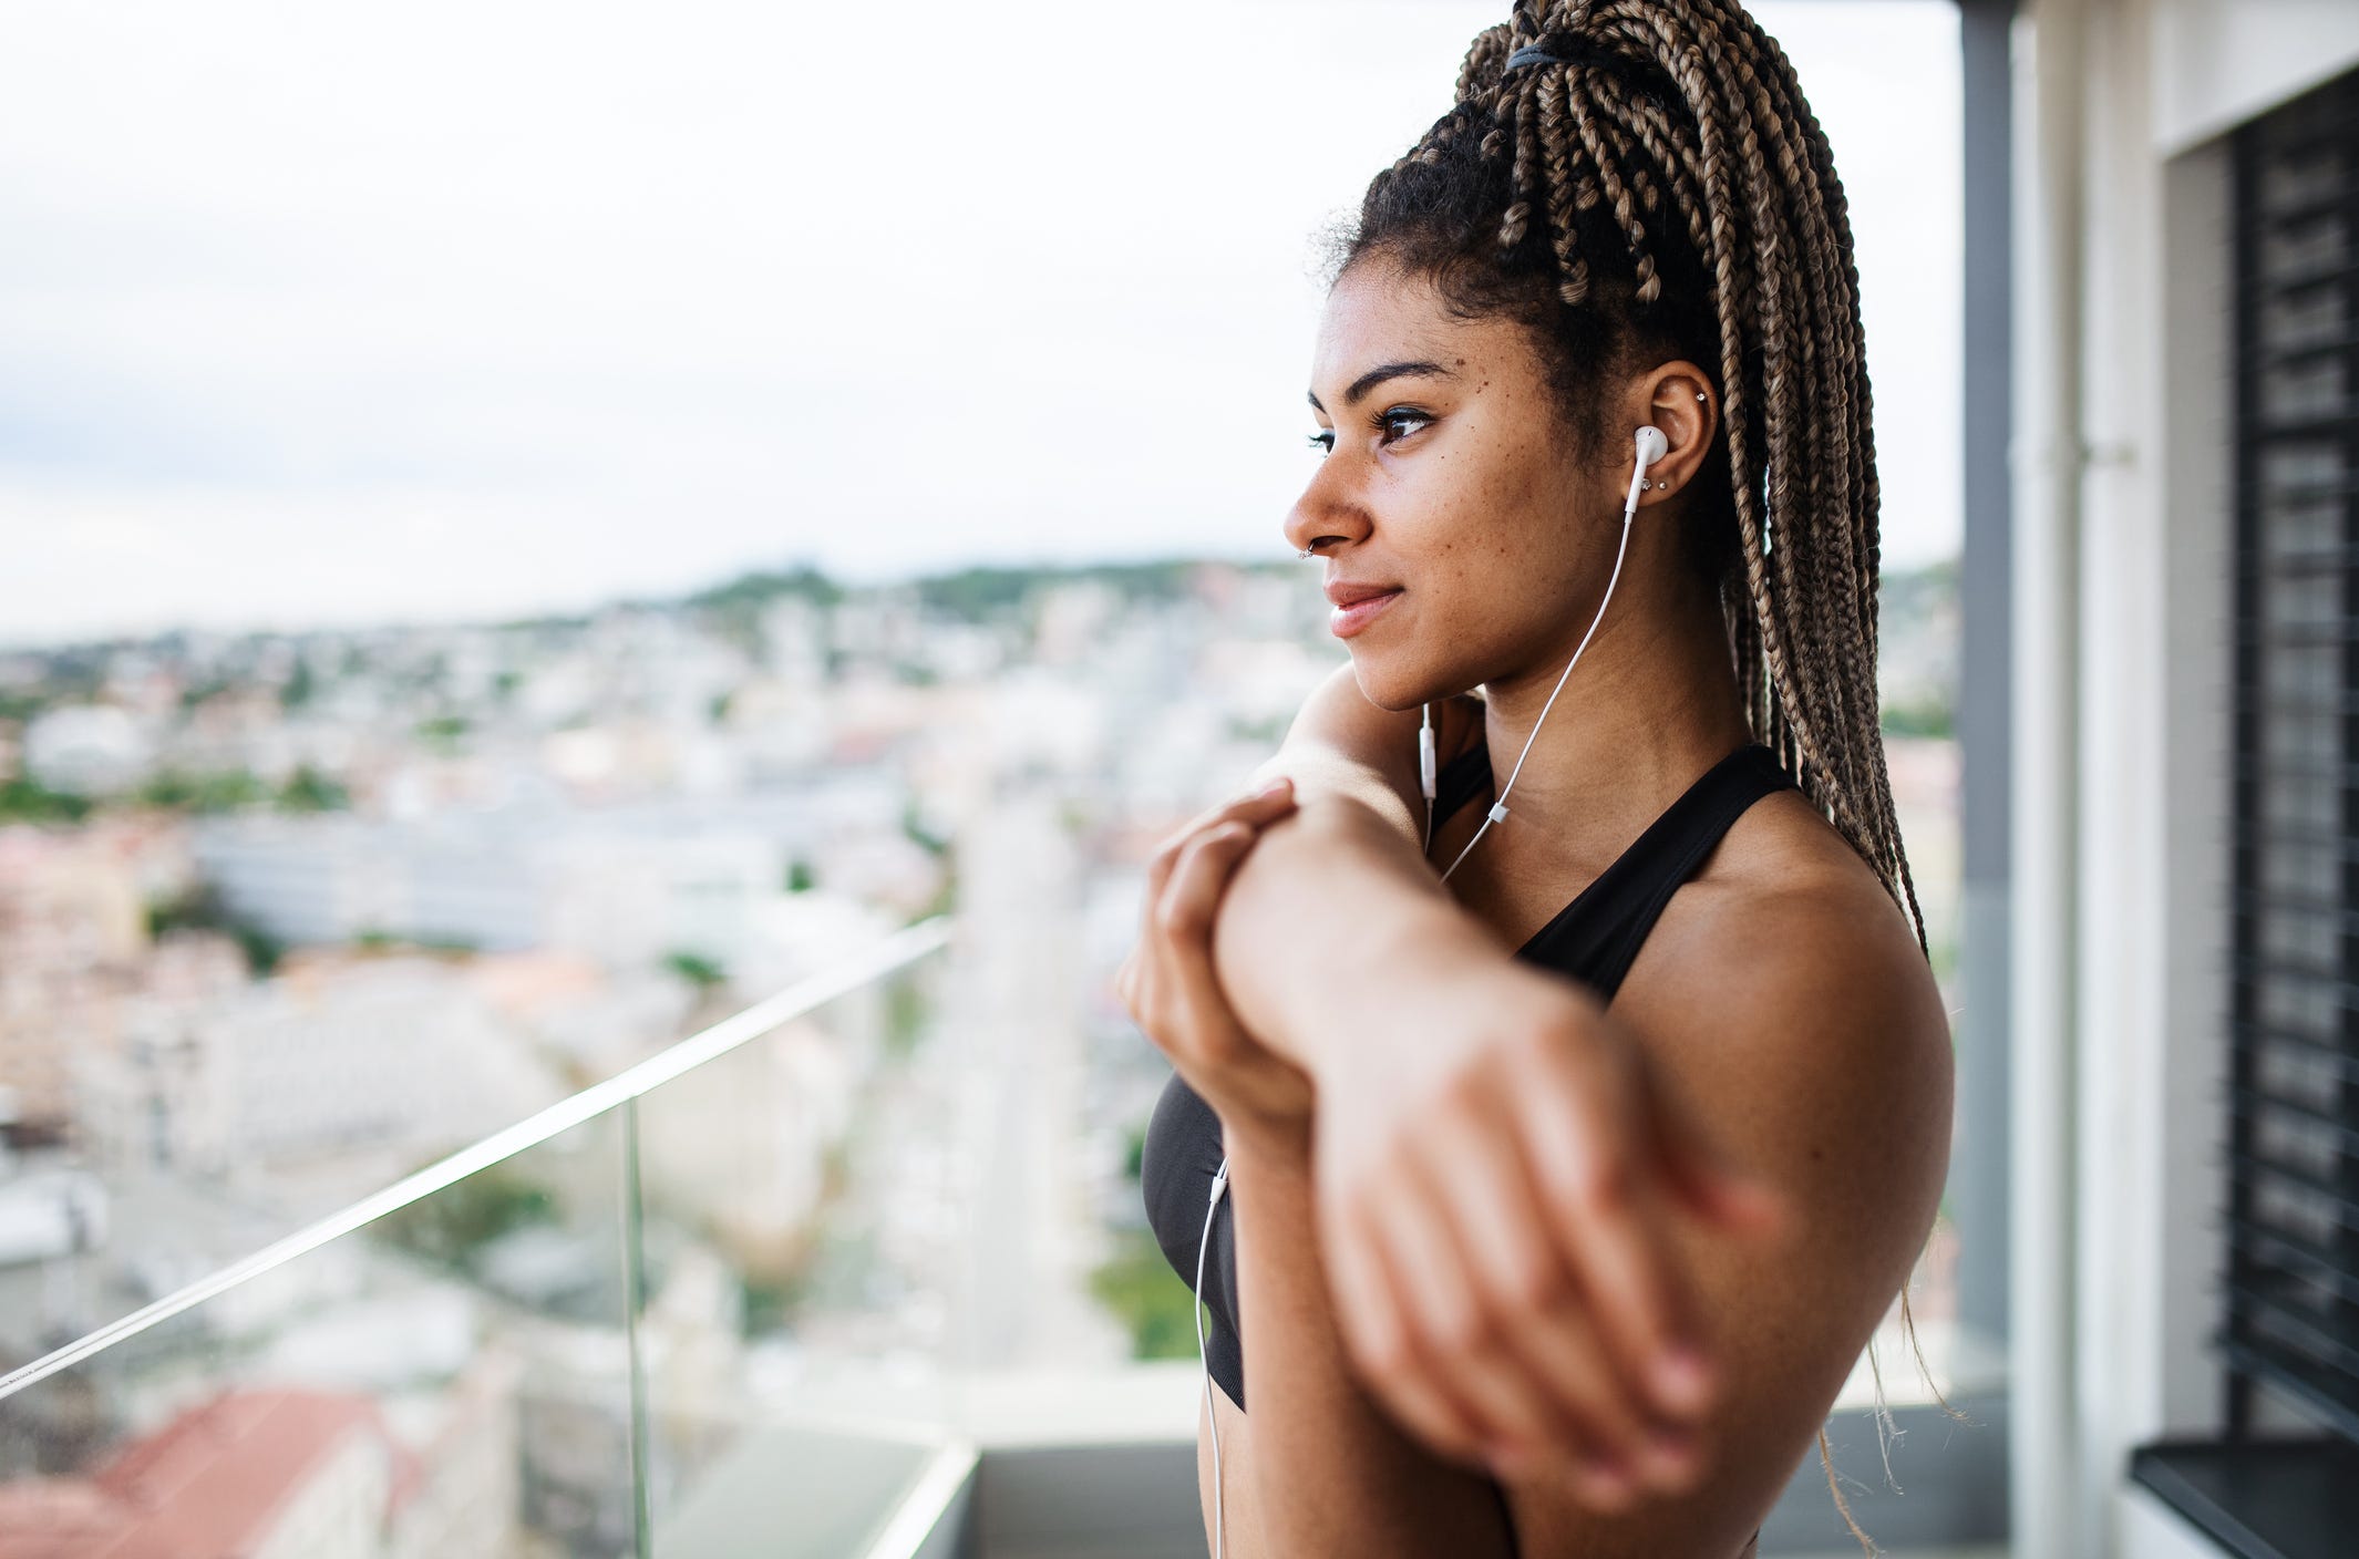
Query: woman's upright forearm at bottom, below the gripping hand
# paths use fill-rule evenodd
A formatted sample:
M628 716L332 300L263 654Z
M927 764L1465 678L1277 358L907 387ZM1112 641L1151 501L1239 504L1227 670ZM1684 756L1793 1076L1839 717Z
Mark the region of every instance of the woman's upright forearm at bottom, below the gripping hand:
M1255 1507L1269 1554L1512 1554L1498 1488L1434 1458L1352 1375L1300 1151L1229 1144Z

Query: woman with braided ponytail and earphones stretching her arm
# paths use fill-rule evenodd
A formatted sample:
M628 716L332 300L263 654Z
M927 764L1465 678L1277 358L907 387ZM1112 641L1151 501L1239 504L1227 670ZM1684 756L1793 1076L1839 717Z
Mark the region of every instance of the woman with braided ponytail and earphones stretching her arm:
M1286 535L1349 665L1118 979L1222 1559L1729 1559L1824 1455L1951 1123L1868 410L1734 0L1517 5L1338 236Z

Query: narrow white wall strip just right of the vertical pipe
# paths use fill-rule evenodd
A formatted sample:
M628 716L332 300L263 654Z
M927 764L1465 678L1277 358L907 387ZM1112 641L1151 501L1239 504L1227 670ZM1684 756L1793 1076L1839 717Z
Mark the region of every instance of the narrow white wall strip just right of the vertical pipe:
M2149 26L2137 0L2090 7L2083 52L2081 351L2081 896L2076 1071L2076 1554L2121 1552L2114 1502L2128 1448L2158 1420L2156 1250L2170 1210L2161 1090L2168 1075L2166 807L2170 323L2163 311L2163 170L2151 146ZM2033 1550L2036 1552L2036 1550Z

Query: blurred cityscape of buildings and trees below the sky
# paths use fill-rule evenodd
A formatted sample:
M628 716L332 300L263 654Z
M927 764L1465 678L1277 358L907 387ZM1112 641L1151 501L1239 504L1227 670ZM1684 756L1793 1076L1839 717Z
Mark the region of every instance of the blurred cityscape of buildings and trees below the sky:
M932 1363L1194 1356L1137 1186L1168 1066L1111 976L1149 851L1345 658L1326 613L1300 564L790 568L580 618L0 653L0 1370L958 927L627 1120L0 1401L0 1559L618 1554L635 1500L691 1521L781 1401L826 1422L903 1382L918 1420ZM1887 573L1944 986L1956 653L1956 564ZM1944 1219L1920 1323L1953 1259Z

